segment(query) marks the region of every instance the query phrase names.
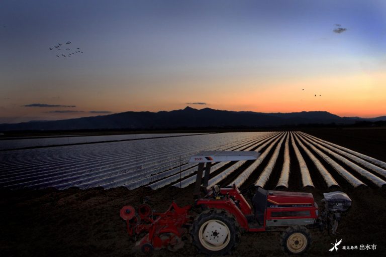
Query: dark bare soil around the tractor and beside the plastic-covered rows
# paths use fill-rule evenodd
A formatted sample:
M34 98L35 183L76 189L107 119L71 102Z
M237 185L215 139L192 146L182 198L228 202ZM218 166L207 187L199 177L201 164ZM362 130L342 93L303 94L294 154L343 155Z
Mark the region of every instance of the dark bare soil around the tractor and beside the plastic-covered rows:
M348 147L352 150L386 161L384 152L385 130L307 130L313 136ZM383 145L383 148L382 148ZM309 160L306 160L309 164ZM297 166L292 164L292 169ZM310 172L317 171L309 165ZM314 169L314 170L313 170ZM273 171L275 174L277 171ZM296 176L289 190L309 191L318 203L323 192L332 191L323 183L318 189L302 189ZM247 181L248 182L248 181ZM340 181L338 181L340 182ZM341 191L352 199L349 213L339 224L339 235L312 231L313 244L310 256L386 256L386 193L369 187L354 189L348 183L339 183ZM268 188L275 185L269 183ZM179 205L192 202L192 187L185 189L148 188L127 190L68 189L58 191L18 190L0 191L0 252L2 256L143 256L131 250L133 243L119 216L123 205L138 205L149 196L157 211L164 211L172 199ZM233 256L281 256L280 233L246 233L242 236ZM342 245L376 244L375 250L342 250L338 254L328 251L332 242L343 238ZM334 251L335 252L335 251ZM196 256L196 249L188 242L177 252L160 250L154 256ZM204 256L204 255L200 255Z

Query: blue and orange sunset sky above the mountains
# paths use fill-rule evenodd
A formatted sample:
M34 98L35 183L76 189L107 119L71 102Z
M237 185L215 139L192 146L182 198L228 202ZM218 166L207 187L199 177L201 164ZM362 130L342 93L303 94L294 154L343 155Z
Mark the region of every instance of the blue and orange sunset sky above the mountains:
M0 123L185 106L376 117L385 71L385 1L0 2Z

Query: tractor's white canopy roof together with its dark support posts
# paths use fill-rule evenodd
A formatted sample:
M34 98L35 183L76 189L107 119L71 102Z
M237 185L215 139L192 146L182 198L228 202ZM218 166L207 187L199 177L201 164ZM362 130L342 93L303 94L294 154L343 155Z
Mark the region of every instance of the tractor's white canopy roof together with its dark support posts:
M206 191L208 187L209 174L211 171L212 163L256 160L259 155L260 153L254 151L207 151L200 152L191 156L189 163L199 163L194 192L195 197L200 197L202 189ZM202 181L205 163L205 177L204 181ZM201 186L201 184L203 184L203 186Z

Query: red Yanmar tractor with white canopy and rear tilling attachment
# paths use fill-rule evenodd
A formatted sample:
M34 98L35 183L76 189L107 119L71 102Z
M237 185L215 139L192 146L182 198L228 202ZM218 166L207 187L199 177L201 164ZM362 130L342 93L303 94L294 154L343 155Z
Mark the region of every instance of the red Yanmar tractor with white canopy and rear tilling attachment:
M251 196L251 206L235 185L208 188L211 163L255 160L258 155L211 151L192 156L190 162L199 163L193 205L180 208L173 202L164 213L153 213L146 203L137 212L131 206L124 206L121 217L126 220L129 235L139 239L134 249L144 253L161 248L177 250L183 246L183 239L190 237L199 251L223 255L237 245L242 232L282 231L284 250L301 254L311 243L308 228L330 230L331 227L335 233L341 213L351 206L345 193L325 193L325 210L320 213L311 193L272 191L252 185L245 190Z

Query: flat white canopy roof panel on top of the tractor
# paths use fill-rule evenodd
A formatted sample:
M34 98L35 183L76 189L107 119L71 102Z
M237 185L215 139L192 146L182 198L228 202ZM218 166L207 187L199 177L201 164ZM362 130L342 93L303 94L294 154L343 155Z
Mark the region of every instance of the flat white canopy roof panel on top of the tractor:
M256 160L260 153L254 151L208 151L190 157L189 163L216 163Z

